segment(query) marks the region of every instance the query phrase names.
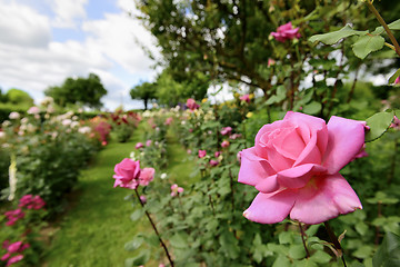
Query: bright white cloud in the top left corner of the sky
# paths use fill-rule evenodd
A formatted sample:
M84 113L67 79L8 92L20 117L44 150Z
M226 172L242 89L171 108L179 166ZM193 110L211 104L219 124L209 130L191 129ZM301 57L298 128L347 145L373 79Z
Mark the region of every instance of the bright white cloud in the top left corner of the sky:
M0 43L44 47L51 38L49 19L33 9L0 0Z

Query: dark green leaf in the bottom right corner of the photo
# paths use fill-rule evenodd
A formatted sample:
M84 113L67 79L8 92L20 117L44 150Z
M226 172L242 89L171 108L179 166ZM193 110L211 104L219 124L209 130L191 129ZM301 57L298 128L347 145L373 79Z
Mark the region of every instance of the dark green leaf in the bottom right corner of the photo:
M373 256L373 267L400 266L400 237L388 233Z

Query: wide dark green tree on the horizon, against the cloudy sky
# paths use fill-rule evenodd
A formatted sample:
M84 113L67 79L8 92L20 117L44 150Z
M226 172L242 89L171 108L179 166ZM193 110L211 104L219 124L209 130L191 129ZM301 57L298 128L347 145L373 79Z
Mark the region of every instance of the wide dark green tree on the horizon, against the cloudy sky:
M102 106L100 99L107 95L107 90L100 78L90 73L88 78L67 78L62 86L50 87L44 95L52 97L61 107L73 103L99 108Z

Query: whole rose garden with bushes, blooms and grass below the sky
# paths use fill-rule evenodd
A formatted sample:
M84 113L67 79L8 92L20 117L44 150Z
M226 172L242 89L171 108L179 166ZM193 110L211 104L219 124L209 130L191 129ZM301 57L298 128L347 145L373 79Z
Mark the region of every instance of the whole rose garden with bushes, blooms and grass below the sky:
M146 110L1 109L0 266L400 266L383 2L138 1Z

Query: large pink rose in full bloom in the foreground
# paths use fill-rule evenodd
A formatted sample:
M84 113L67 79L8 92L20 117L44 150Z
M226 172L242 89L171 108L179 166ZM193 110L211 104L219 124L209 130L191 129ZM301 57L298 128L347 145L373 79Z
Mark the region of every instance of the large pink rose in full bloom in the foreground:
M339 170L362 150L364 127L364 121L334 116L326 125L292 111L264 125L256 146L240 154L239 181L260 191L244 217L274 224L290 215L313 225L361 209Z

